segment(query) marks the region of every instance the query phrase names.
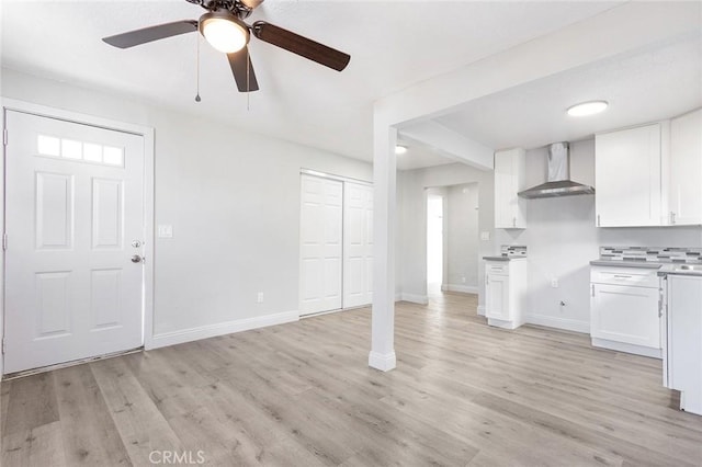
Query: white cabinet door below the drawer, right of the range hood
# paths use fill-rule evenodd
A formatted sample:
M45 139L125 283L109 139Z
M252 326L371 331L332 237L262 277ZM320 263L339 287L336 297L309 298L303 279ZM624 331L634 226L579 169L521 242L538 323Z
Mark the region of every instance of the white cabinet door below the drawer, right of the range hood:
M595 284L590 315L592 338L660 349L657 288Z

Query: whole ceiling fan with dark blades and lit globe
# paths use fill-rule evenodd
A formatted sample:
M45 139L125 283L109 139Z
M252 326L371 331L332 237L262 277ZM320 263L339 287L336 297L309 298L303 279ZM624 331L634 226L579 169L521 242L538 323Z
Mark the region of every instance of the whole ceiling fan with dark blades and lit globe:
M227 54L234 79L240 92L258 91L247 44L251 33L259 39L284 48L309 60L343 70L351 56L324 44L303 37L265 21L249 25L244 22L263 0L186 0L207 10L200 20L183 20L173 23L144 27L127 33L104 37L114 47L128 48L180 34L200 33L217 50Z

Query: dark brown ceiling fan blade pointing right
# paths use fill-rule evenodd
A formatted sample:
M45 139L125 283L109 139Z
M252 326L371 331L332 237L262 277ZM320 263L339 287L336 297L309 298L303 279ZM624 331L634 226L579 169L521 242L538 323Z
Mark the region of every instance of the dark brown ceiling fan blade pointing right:
M267 23L265 21L257 21L253 23L252 31L253 35L263 42L290 50L293 54L297 54L337 71L343 70L351 59L351 56L343 52L319 44L318 42Z

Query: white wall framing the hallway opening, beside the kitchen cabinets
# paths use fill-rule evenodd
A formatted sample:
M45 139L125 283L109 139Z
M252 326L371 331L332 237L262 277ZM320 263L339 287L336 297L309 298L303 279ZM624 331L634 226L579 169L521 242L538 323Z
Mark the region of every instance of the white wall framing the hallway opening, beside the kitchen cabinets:
M397 174L398 196L396 240L396 292L403 299L427 299L427 196L428 187L473 183L477 189L479 210L478 231L492 231L494 185L492 172L480 171L462 163L452 163L428 169L401 171ZM494 243L479 241L476 257L494 253ZM451 255L451 253L449 253ZM477 261L477 260L476 260ZM478 261L477 284L480 303L484 299L484 264Z

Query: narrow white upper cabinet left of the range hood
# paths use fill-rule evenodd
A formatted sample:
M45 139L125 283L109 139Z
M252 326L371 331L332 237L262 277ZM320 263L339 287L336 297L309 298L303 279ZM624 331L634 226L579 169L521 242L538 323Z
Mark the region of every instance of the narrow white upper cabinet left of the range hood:
M524 149L495 152L495 228L526 228L524 200L517 193L524 190Z

